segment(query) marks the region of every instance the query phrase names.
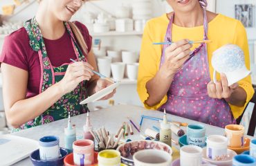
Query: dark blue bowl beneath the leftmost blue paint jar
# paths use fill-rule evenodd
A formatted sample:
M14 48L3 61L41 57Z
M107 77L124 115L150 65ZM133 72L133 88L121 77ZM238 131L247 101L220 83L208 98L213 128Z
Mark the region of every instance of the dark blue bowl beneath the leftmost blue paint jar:
M44 166L44 165L62 166L64 165L64 158L66 157L67 154L68 154L68 151L60 147L60 158L57 158L55 160L40 160L39 149L37 149L30 154L30 160L35 166Z

